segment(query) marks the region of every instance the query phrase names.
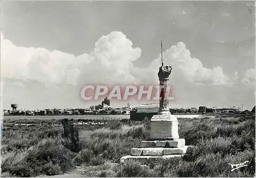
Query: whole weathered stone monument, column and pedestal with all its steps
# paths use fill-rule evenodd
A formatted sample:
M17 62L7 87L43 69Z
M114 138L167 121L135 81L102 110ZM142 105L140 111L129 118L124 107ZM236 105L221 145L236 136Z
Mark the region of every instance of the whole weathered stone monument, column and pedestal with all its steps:
M186 153L185 139L179 138L178 120L169 112L168 98L165 96L172 66L160 66L158 77L160 81L159 112L150 121L150 138L142 141L139 148L132 148L131 155L120 159L121 163L128 160L138 160L141 163L156 159L181 157Z

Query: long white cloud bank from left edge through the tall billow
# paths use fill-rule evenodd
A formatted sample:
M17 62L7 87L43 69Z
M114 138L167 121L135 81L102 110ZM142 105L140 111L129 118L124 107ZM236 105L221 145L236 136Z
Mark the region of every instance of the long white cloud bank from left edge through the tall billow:
M121 32L102 36L90 54L75 56L43 48L15 46L1 33L1 71L4 78L30 79L41 82L81 84L127 82L134 80L129 70L141 50Z

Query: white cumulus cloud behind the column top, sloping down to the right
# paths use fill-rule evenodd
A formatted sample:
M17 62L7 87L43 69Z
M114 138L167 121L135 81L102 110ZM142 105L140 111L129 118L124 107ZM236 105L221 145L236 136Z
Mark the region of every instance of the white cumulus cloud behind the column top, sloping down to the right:
M147 75L154 74L156 66L160 65L161 56L155 59L150 69L146 69L144 73ZM214 84L214 85L226 85L230 84L230 80L227 75L223 73L220 66L216 66L213 69L208 69L203 66L203 63L197 59L192 58L190 51L186 48L183 42L178 42L176 45L170 47L163 53L164 65L173 66L175 72L172 73L172 79L176 82L187 81L194 84ZM157 69L158 70L158 69ZM151 76L154 78L154 76ZM155 77L155 80L157 78Z

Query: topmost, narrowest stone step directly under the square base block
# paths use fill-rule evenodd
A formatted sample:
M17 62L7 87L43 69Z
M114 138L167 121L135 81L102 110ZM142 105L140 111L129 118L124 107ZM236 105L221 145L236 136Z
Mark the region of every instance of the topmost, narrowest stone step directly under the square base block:
M183 146L185 146L185 139L177 139L173 141L142 141L140 145L141 148L177 148Z

